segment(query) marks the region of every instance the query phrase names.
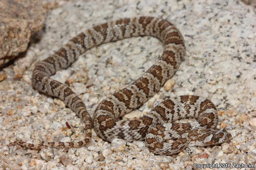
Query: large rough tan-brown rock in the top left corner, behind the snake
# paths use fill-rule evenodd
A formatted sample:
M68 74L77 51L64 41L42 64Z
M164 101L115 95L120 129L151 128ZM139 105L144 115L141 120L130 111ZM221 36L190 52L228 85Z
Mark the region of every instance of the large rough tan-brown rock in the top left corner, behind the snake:
M33 33L44 26L40 0L2 0L0 5L0 67L26 51Z

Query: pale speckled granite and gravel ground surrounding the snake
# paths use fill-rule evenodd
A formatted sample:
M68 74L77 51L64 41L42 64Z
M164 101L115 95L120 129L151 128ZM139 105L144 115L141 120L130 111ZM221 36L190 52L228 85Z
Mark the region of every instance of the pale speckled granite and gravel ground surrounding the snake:
M0 71L0 168L2 169L192 169L193 164L256 162L256 11L238 0L59 1L45 28L24 57ZM43 60L81 30L132 16L162 17L174 23L186 41L187 54L175 76L136 116L145 115L164 96L200 95L214 102L218 128L232 133L230 142L188 147L173 156L150 153L144 142L103 141L93 131L87 147L6 147L11 141L78 141L84 124L57 99L31 86ZM53 78L66 82L92 115L97 104L139 78L161 55L153 37L137 37L88 50ZM32 62L32 63L31 63ZM22 73L21 79L15 75ZM79 74L76 74L79 73ZM130 119L132 116L127 116ZM72 127L68 129L66 122ZM228 164L227 164L228 165ZM221 168L220 168L221 169ZM242 168L244 169L244 168Z

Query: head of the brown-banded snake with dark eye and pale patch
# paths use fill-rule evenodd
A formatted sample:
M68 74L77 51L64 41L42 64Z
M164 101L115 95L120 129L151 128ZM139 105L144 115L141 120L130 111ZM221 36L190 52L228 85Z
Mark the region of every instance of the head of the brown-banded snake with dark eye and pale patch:
M210 129L208 132L205 132L204 136L203 144L205 146L211 144L222 144L232 138L231 133L229 133L225 128Z

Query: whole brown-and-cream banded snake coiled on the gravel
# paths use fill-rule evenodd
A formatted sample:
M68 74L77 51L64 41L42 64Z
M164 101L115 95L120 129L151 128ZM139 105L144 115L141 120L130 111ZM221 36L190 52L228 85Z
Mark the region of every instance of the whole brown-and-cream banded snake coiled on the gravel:
M84 102L63 83L50 78L66 69L86 50L103 43L137 36L158 38L164 47L159 59L137 80L113 93L96 107L93 116ZM169 21L157 17L122 18L93 26L79 33L48 58L38 62L32 73L32 85L40 92L60 98L84 122L85 138L79 142L41 142L30 144L22 140L7 146L20 145L30 149L80 148L92 137L92 127L102 139L114 138L127 142L145 141L150 152L173 155L188 146L206 146L227 142L232 135L225 128L217 129L218 112L214 104L203 97L184 95L167 98L147 115L135 120L120 117L140 107L160 90L178 70L186 53L180 31ZM182 118L195 118L189 123L176 123ZM170 142L170 140L173 140Z

